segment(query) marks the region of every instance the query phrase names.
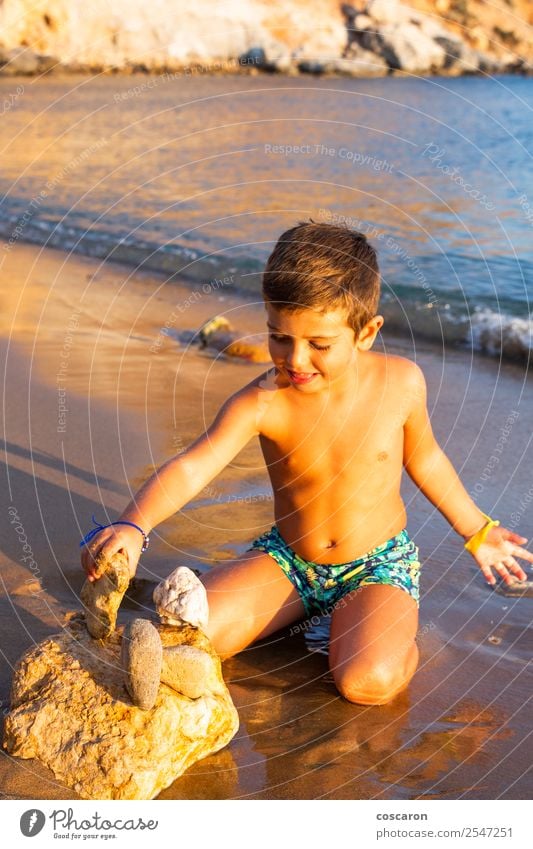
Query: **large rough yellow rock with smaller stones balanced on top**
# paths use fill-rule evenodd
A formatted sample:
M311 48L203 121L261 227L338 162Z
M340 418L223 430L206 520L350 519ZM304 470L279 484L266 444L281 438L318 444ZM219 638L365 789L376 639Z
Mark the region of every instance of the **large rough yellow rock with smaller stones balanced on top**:
M81 617L18 662L4 747L38 758L84 799L153 799L191 764L227 745L237 711L207 637L159 626L165 646L190 645L216 661L220 687L189 699L161 684L152 710L132 705L120 668L121 634L92 640Z

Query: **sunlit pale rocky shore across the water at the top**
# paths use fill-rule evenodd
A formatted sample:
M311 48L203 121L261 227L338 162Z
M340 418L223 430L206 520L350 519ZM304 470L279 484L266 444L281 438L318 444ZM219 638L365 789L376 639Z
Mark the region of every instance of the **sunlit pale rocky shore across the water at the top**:
M526 0L4 0L0 75L529 74Z

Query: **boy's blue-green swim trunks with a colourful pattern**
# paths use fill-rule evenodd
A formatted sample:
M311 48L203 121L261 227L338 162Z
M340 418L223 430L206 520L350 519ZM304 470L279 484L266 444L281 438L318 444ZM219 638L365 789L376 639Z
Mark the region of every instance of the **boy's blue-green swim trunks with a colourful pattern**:
M406 530L349 563L303 560L287 545L276 526L256 539L251 547L266 551L281 566L296 587L308 616L331 613L345 595L370 584L399 587L418 605L418 548Z

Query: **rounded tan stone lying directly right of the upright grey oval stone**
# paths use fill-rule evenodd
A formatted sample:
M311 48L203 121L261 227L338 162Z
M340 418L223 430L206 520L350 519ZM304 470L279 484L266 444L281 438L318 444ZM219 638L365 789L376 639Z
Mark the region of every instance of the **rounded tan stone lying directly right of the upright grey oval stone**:
M189 699L221 692L214 658L194 646L163 649L161 681Z

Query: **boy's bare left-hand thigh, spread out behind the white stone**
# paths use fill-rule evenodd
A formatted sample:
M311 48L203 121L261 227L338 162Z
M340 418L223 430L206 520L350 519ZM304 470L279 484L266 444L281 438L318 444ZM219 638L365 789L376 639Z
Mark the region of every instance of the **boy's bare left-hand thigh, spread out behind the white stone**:
M296 589L264 551L246 551L201 580L209 604L206 633L222 659L305 614Z

